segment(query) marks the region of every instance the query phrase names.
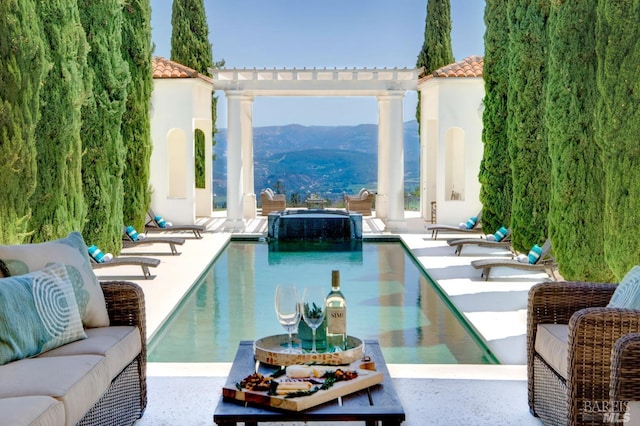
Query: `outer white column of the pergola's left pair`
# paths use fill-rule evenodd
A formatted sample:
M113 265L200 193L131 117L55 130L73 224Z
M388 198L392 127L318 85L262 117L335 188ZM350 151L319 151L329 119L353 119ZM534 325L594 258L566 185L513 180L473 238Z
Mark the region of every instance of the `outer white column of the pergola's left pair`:
M242 92L225 91L227 98L227 221L225 229L244 229L242 219L243 164L242 164Z

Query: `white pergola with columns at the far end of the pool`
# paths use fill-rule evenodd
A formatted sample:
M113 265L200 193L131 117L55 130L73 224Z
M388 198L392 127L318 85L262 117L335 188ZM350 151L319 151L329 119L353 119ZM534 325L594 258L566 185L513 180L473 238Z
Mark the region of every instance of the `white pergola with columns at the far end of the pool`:
M255 218L253 99L256 96L375 96L378 100L376 216L389 230L406 228L402 100L417 90L417 69L210 69L227 98L227 223L241 230Z

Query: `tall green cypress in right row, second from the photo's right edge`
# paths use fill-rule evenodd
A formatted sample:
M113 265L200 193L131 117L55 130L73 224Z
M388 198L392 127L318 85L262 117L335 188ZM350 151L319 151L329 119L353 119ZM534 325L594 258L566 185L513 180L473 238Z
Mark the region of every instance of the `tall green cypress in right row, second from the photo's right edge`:
M565 279L605 282L613 275L604 258L605 186L593 123L597 3L551 4L546 87L549 234Z

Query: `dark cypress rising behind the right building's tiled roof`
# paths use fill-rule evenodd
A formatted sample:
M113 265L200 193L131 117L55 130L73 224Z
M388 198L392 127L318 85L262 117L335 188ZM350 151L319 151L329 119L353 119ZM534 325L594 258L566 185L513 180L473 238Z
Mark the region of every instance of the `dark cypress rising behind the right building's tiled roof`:
M422 50L416 66L424 67L430 74L438 68L453 63L451 47L451 3L449 0L428 0ZM420 96L416 108L416 120L420 123ZM420 126L418 126L418 130Z

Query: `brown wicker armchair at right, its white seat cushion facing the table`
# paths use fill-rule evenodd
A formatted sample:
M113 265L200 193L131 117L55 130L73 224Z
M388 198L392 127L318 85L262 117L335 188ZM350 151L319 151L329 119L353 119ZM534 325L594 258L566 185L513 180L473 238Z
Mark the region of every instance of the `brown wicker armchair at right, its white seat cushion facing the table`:
M640 311L606 307L615 289L615 284L559 282L537 284L529 291L529 409L545 424L591 425L607 420L610 384L620 383L616 377L620 370L612 367L612 349L621 337L640 332ZM536 337L542 324L568 326L566 377L538 352ZM633 397L638 392L635 383Z

